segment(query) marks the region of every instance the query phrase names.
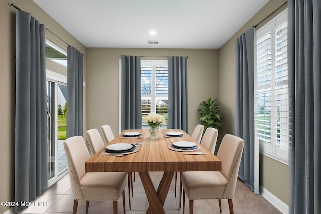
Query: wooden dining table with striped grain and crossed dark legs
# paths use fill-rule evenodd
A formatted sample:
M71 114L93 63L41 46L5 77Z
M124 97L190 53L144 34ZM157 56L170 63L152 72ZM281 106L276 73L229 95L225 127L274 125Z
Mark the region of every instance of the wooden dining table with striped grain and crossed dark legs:
M139 136L129 137L126 133L136 132ZM172 136L167 133L182 133ZM118 143L133 144L135 150L127 154L110 154L106 146L85 163L86 172L138 172L149 208L146 213L165 213L163 205L175 172L221 171L221 160L204 148L185 131L180 129L159 129L158 139L150 139L149 129L122 131L107 146ZM183 142L180 142L183 141ZM178 143L195 143L196 149L181 150L174 147ZM164 172L157 190L149 172Z

